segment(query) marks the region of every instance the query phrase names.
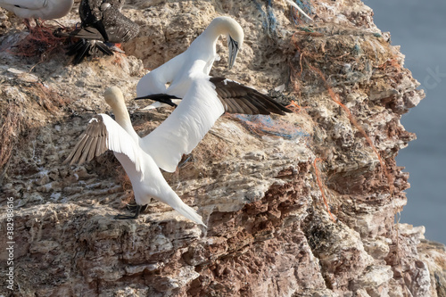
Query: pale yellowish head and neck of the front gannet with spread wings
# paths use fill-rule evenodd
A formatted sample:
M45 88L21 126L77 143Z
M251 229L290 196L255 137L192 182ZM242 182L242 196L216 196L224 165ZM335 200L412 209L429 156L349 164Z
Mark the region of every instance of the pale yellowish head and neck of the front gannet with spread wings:
M110 105L113 110L115 120L120 127L124 128L132 138L138 142L139 136L136 134L135 129L132 126L130 115L126 107L124 95L120 91L119 87L109 87L103 93L105 102Z

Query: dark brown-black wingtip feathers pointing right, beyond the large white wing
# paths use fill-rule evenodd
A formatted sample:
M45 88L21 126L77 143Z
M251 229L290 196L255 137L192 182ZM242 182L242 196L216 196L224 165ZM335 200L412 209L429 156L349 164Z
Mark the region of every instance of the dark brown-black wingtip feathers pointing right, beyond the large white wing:
M211 78L210 81L215 85L215 90L225 111L229 113L285 115L285 112L292 112L268 95L261 94L259 91L241 85L234 80Z

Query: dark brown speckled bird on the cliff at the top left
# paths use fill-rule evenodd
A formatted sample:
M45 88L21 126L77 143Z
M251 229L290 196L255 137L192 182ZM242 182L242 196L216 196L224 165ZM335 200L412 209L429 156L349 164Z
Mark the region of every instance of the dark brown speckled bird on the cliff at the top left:
M125 0L81 1L81 27L69 34L70 37L81 38L68 52L75 55L74 64L82 62L87 54L97 54L98 51L113 54L111 47L105 43L120 44L136 37L139 26L120 12L124 3Z

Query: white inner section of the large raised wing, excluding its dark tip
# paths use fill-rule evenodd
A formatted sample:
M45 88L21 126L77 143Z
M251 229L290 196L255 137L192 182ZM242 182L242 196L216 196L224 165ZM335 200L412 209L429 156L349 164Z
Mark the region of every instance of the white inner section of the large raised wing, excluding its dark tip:
M192 152L223 112L209 77L194 79L182 103L141 145L158 167L173 172L183 154Z

